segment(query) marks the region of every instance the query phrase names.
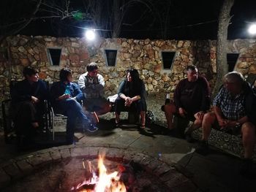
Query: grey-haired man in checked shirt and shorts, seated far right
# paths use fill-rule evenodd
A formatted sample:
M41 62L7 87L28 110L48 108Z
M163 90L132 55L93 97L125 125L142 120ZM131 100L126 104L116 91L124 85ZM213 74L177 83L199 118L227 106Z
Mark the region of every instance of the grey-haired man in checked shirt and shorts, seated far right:
M203 138L197 152L208 153L207 140L212 126L233 134L242 134L245 162L242 171L247 172L255 146L256 96L241 73L225 74L223 82L224 86L213 101L214 111L208 112L203 118Z

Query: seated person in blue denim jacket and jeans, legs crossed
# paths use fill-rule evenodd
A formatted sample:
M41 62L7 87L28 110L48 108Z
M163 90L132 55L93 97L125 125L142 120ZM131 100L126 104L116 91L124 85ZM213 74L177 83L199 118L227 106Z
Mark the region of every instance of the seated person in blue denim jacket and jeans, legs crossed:
M70 69L61 69L59 74L60 81L54 82L50 88L53 107L61 110L64 115L67 115L67 143L72 144L75 129L76 118L83 120L84 126L90 132L97 131L98 128L91 123L83 112L80 101L83 99L83 93L78 85L72 82L72 72Z

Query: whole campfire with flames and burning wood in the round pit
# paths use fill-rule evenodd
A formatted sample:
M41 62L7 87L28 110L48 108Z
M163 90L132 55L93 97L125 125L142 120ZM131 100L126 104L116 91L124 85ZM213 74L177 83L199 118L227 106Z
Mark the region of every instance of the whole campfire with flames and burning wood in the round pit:
M97 169L91 165L91 161L82 161L85 173L83 183L72 187L71 191L83 192L126 192L127 188L121 180L121 176L127 171L125 166L118 165L118 171L108 172L104 164L104 156L99 155Z

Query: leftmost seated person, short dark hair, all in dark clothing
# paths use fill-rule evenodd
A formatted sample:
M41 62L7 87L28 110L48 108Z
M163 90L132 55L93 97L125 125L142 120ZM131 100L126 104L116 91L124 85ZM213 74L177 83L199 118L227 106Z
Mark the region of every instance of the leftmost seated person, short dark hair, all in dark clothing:
M44 100L48 97L45 82L39 80L38 72L30 66L23 69L25 80L17 82L11 90L13 119L19 142L34 142L34 135L45 112Z

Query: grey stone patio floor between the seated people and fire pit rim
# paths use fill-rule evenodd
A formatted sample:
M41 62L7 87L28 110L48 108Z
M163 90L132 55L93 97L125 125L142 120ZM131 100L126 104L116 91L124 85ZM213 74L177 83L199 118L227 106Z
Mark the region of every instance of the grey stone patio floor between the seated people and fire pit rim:
M246 179L238 173L241 159L214 149L211 150L211 154L203 156L195 153L196 143L190 144L184 139L166 134L165 118L160 110L163 100L148 99L148 110L154 112L157 121L154 125L146 127L146 131L139 131L135 126L116 128L112 120L113 113L110 113L100 118L99 131L96 133L76 132L75 137L78 139L76 145L135 149L166 164L176 164L176 170L192 180L192 183L199 188L198 191L255 191L255 180ZM18 152L15 145L4 143L3 132L0 133L1 177L1 173L4 172L2 167L7 162L20 155L29 156L39 152L34 150Z

